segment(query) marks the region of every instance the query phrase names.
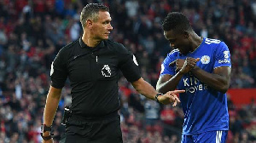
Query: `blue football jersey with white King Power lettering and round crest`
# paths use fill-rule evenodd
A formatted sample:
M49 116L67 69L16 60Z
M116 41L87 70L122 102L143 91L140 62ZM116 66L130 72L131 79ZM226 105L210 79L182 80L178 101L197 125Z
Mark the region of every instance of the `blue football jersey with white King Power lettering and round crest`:
M220 66L231 67L230 50L227 45L216 39L204 38L201 45L187 55L180 54L178 49L172 50L162 63L160 76L165 74L174 76L176 66L169 64L173 60L186 59L186 57L200 58L196 66L209 73ZM186 90L185 93L180 94L184 112L183 134L229 129L226 94L211 89L190 72L182 77L177 89Z

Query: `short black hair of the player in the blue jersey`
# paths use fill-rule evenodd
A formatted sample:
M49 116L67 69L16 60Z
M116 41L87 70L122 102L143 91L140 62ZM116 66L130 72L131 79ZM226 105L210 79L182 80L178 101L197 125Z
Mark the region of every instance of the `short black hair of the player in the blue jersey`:
M172 12L167 14L162 22L164 31L192 31L189 19L182 13Z

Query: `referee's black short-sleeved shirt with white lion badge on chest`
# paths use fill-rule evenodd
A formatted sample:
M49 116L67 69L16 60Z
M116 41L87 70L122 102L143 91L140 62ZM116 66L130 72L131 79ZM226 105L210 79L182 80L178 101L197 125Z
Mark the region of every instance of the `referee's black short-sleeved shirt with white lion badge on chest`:
M119 110L119 70L129 82L141 75L135 56L120 43L104 40L95 48L81 38L63 47L51 66L51 86L71 83L72 111L80 117L101 117Z

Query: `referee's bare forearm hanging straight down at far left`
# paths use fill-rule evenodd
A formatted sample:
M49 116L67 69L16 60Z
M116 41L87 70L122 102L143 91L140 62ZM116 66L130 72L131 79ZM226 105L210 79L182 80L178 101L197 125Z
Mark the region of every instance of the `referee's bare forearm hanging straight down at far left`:
M61 99L61 90L62 89L56 89L52 86L50 86L49 88L49 93L47 95L44 108L44 124L48 127L51 126L51 124L53 123L55 112ZM43 133L43 136L48 135L49 131Z

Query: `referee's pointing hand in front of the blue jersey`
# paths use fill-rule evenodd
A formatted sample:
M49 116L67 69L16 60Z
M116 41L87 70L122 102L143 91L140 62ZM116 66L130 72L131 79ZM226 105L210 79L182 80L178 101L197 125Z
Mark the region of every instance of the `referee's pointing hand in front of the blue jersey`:
M180 102L180 100L177 98L177 94L184 92L185 90L168 91L166 94L158 96L158 100L164 105L173 103L172 106L177 106L177 102Z

